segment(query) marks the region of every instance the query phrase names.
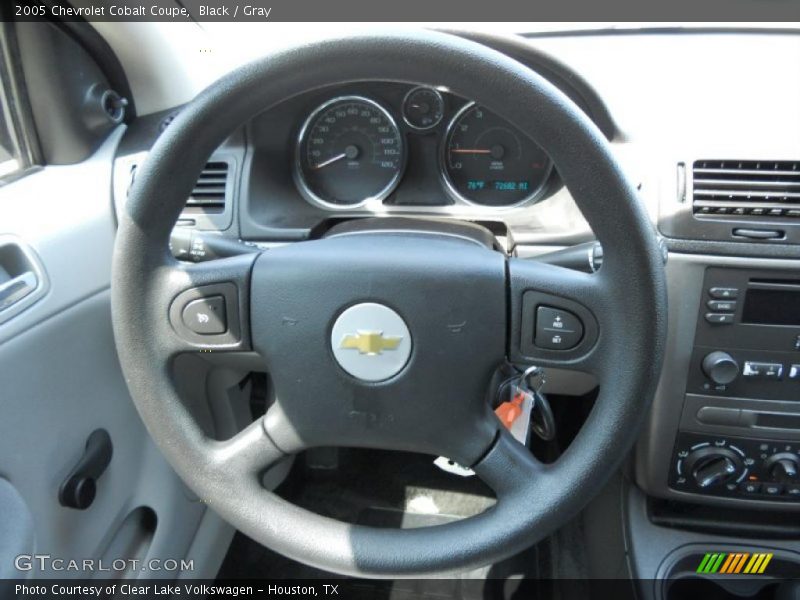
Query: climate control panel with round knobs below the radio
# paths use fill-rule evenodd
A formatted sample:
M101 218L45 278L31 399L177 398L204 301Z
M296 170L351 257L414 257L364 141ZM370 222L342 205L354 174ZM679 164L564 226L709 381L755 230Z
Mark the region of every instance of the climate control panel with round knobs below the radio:
M800 442L681 432L669 486L693 494L800 502Z

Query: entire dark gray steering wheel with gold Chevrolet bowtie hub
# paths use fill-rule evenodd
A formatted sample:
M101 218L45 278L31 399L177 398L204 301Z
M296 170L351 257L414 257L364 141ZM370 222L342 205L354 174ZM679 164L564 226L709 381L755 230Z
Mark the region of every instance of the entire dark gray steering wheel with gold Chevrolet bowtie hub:
M602 243L602 269L589 275L458 236L387 231L206 263L173 259L168 240L185 199L236 128L303 92L365 80L446 85L529 135ZM298 46L231 72L188 104L139 169L121 216L112 311L136 407L204 501L298 561L398 577L497 562L552 533L600 490L655 391L665 289L654 229L595 125L518 62L453 35L412 31ZM216 299L224 333L181 325L187 304L202 298ZM574 348L534 343L542 306L582 321ZM173 360L200 351L254 351L272 377L275 403L229 440L204 433L176 390ZM490 380L506 360L580 370L599 382L588 420L552 464L535 459L492 412ZM313 514L262 487L267 467L319 446L447 456L471 467L497 501L445 525L377 529Z

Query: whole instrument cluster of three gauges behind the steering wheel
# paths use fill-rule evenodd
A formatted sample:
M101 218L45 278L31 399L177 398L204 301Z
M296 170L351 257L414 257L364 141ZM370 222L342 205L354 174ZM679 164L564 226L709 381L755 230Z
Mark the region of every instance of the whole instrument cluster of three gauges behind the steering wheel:
M421 194L438 192L426 205L514 208L542 198L552 162L502 117L432 87L412 87L398 100L334 95L307 114L293 176L308 202L328 210L404 204L392 201L398 186L413 179L408 171L427 168L419 161L432 160L438 189L408 183ZM425 150L432 144L434 152Z

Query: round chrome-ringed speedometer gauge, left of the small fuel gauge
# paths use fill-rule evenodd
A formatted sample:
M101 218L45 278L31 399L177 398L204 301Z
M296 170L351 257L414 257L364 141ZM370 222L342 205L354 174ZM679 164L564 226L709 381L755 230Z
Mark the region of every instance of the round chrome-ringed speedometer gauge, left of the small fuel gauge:
M306 120L295 175L311 202L353 208L383 200L400 179L403 141L392 116L360 96L334 98Z

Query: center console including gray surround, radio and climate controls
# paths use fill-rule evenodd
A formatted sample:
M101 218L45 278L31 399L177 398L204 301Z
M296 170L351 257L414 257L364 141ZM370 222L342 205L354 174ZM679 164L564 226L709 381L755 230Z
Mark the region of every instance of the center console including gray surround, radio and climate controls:
M798 261L705 259L670 267L672 333L637 482L663 498L800 509Z

